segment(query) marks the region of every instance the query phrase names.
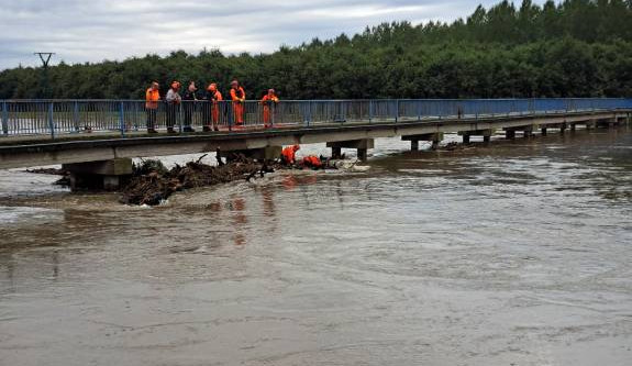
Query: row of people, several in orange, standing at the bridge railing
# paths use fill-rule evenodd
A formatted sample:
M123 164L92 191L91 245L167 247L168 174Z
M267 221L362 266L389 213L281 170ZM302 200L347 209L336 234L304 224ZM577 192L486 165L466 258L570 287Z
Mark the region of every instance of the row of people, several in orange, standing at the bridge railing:
M159 87L160 86L158 82L154 81L145 93L145 110L147 112L148 133L158 133L156 131L156 119L158 104L162 100ZM198 97L198 88L196 87L195 81L189 82L188 88L182 92L182 95L180 95L180 87L181 86L179 81L171 82L169 91L167 91L167 95L165 96L167 132L176 133L174 126L177 124L180 106L182 107L184 118L182 131L196 131L191 126L193 112L196 111L195 101L207 102L207 104L202 106L203 131L219 131L221 114L220 110L223 104L221 102L224 99L218 89L218 85L215 82L210 84L201 98ZM230 97L233 110L233 122L236 127L242 127L244 125L246 92L237 80L233 80L231 82ZM263 122L265 127L271 126L271 108L278 102L279 98L277 97L274 89L269 89L267 93L259 100L259 103L263 106Z

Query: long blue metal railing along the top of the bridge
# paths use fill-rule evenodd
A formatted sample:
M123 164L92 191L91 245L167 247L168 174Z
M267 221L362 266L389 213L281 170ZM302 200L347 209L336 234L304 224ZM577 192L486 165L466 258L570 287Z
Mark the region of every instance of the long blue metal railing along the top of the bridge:
M156 130L241 131L263 127L319 127L351 123L400 123L437 119L546 115L585 111L632 110L632 99L402 99L402 100L287 100L264 106L246 101L243 115L230 101L159 102L146 110L142 100L0 100L0 136L48 135L79 132ZM155 122L151 118L154 114ZM239 123L243 120L243 123ZM264 124L264 121L267 123Z

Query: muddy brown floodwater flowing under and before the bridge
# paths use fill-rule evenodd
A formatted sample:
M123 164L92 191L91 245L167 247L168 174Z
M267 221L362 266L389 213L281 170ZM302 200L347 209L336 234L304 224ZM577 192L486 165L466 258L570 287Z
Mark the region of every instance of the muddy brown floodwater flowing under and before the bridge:
M0 171L0 364L632 364L630 131L406 147L153 209Z

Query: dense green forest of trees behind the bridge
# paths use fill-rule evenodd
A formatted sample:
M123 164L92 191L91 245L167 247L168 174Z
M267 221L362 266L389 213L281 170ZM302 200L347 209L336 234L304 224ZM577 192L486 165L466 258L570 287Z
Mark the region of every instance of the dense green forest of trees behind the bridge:
M0 98L42 96L40 68L0 73ZM184 51L49 69L49 97L141 99L152 80L239 78L285 99L632 97L632 0L478 7L451 24L409 22L281 46L273 54ZM166 90L165 90L166 91Z

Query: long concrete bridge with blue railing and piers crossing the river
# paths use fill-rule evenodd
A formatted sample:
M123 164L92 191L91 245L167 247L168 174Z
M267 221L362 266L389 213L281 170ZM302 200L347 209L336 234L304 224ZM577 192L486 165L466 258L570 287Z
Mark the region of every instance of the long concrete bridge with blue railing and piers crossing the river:
M86 101L89 102L95 103ZM79 114L79 119L73 113L73 123L65 124L66 130L59 127L63 121L55 120L55 114L67 120L68 113L59 112L64 109L55 103L71 103L76 112L79 101L24 103L13 110L2 103L4 135L0 137L0 168L63 164L76 181L82 176L97 176L109 188L131 174L134 157L220 148L263 159L277 157L282 145L326 143L333 157L340 156L342 148L354 148L361 159L366 159L377 137L399 136L418 149L420 141L436 145L446 133L457 133L464 143L469 143L472 136L483 136L484 142L489 142L499 131L506 138L515 138L517 133L528 137L534 132L565 133L577 126L611 127L630 122L632 112L629 99L288 101L273 106L274 121L267 129L259 123L262 106L246 106L246 123L236 129L231 106L226 103L222 107L225 113L219 121L220 131L149 135L141 130L145 119L142 101L97 101L113 106L113 110L93 109L85 118ZM24 106L35 106L35 111L45 112L29 112ZM135 113L129 112L132 107L136 108ZM197 131L210 123L204 120L210 115L204 108L211 107L191 104L189 121ZM112 113L118 114L114 127L104 126L103 121L112 120ZM158 127L164 127L159 124L158 121Z

